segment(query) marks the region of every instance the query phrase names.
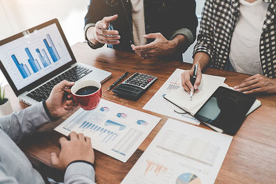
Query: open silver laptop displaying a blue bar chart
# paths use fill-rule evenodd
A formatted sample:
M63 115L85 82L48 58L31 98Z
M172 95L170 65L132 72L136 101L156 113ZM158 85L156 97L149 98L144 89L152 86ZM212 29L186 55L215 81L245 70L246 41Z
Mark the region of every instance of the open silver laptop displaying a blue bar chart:
M63 80L103 83L112 75L77 63L57 19L0 41L0 68L17 97L28 105L46 100Z

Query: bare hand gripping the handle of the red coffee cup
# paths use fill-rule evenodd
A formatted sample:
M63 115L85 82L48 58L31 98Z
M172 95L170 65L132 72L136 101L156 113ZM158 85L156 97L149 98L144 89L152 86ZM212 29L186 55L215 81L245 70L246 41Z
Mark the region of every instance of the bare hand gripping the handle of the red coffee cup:
M52 88L52 92L46 100L46 106L53 118L63 116L68 113L68 110L77 107L77 103L73 101L72 95L65 92L65 90L72 85L74 85L74 83L62 81Z

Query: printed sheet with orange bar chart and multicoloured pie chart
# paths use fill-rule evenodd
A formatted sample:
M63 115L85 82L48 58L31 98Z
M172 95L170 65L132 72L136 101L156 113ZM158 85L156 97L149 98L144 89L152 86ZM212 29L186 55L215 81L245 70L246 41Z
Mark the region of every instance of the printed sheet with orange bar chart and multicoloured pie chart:
M215 183L232 139L168 119L122 184Z

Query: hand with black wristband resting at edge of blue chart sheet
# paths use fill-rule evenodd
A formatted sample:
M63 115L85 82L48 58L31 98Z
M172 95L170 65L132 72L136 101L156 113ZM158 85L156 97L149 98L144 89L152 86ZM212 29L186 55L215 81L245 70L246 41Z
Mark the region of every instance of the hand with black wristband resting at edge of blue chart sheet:
M83 136L83 134L77 134L76 132L71 132L69 137L70 141L64 137L59 139L61 145L59 156L55 153L51 153L50 162L52 167L64 171L69 163L79 160L88 161L94 164L95 155L91 145L91 139Z

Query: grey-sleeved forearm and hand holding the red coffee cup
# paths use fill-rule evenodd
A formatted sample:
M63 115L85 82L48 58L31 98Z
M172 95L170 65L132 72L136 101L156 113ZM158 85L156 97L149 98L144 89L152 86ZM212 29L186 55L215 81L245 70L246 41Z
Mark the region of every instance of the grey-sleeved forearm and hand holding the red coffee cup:
M19 142L23 136L31 134L42 125L68 113L76 104L69 99L63 100L63 88L74 83L63 81L56 85L45 102L31 106L19 112L0 118L0 128L10 136L14 142Z

